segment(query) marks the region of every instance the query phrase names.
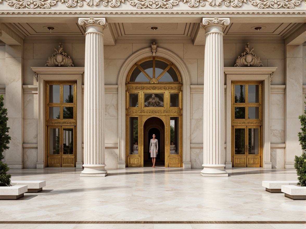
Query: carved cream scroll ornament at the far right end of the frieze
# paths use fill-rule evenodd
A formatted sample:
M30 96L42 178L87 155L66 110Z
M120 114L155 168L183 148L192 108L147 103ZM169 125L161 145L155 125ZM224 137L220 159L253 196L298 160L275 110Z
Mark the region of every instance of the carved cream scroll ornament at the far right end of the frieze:
M259 9L293 9L294 6L299 6L301 0L249 0L253 6L257 6Z

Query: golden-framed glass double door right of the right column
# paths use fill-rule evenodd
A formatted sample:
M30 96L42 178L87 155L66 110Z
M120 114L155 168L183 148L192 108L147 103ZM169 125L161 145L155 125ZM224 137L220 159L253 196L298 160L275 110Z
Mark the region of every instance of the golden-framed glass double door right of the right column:
M232 165L262 166L262 83L232 82Z

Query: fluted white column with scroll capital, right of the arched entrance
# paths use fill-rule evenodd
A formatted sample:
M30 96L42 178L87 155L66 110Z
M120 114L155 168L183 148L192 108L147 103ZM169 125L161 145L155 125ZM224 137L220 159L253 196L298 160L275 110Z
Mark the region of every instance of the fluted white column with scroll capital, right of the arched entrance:
M228 176L224 170L223 28L230 18L203 18L205 29L202 176Z

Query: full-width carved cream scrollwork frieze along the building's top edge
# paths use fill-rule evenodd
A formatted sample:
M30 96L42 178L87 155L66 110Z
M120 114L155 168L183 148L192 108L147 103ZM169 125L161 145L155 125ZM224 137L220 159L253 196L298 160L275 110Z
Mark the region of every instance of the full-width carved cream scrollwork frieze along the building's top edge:
M68 11L69 13L73 13L75 9L81 9L82 13L84 13L84 10L87 13L88 8L90 8L90 13L95 12L97 14L103 13L100 11L103 8L112 11L108 11L108 13L117 13L113 12L114 9L118 9L116 11L121 11L121 13L126 13L130 9L137 9L137 13L145 14L152 13L151 10L158 9L163 13L169 13L169 9L177 8L179 11L175 13L183 13L182 10L184 11L185 9L203 11L203 8L209 9L211 7L215 9L243 9L244 13L246 10L254 9L263 10L263 12L266 9L288 12L288 10L296 8L302 8L301 10L303 11L303 7L299 7L301 2L302 0L0 0L0 4L3 4L6 9L13 8L17 13L27 13L27 10L33 10L33 13L43 14L48 12L60 13L59 11L62 9L72 9ZM125 8L124 12L122 11L123 8ZM99 10L99 12L96 12L96 10ZM147 10L150 11L148 12ZM237 12L236 10L236 13L243 12Z

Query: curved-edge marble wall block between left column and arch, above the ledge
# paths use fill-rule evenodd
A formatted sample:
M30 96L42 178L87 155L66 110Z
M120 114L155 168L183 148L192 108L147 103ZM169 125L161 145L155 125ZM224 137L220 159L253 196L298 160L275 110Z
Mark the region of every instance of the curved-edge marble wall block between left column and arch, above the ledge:
M104 84L117 85L118 76L125 59L104 59Z

